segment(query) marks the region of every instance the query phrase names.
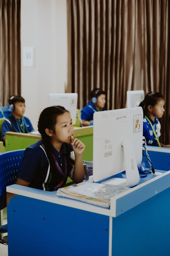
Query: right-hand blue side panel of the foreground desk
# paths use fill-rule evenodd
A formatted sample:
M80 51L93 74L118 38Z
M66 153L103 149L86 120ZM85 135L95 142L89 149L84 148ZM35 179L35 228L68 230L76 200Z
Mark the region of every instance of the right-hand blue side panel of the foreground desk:
M113 218L112 256L170 255L170 188Z

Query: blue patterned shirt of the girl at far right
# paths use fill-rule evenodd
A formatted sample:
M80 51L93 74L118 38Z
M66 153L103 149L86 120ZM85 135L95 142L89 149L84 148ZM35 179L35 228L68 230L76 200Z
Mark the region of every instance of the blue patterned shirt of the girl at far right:
M157 117L155 117L155 122L153 122L152 119L150 119L148 117L148 119L150 120L155 133L157 135L157 138L159 139L160 137L160 123ZM143 136L145 136L147 145L149 146L158 146L158 142L155 138L155 135L153 133L152 127L150 125L150 123L148 122L148 120L146 119L146 117L143 117Z

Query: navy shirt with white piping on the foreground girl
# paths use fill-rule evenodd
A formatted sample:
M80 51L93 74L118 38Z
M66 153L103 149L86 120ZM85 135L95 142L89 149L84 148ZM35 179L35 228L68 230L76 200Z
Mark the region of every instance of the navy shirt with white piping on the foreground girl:
M65 171L65 159L67 163L66 176L60 173L55 166L50 166L43 141L40 140L26 148L21 163L18 177L30 182L30 187L53 191L63 181L65 185L67 177L72 177L74 170L74 152L72 145L63 143L61 152L58 152L51 143L51 147L58 165ZM61 187L62 187L61 186Z

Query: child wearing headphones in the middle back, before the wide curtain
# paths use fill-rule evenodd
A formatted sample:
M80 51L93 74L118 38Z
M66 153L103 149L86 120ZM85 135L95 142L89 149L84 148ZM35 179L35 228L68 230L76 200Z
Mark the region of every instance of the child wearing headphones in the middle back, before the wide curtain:
M83 126L89 126L93 124L93 114L96 111L104 111L104 105L106 103L106 93L99 88L95 88L90 92L91 100L81 110L81 119Z

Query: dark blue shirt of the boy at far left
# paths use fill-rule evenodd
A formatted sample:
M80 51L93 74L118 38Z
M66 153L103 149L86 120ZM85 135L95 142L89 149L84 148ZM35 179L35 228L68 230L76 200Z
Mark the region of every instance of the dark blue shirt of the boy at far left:
M34 131L34 128L28 117L22 116L21 119L17 119L15 116L10 115L8 118L5 118L3 121L2 132L1 132L2 139L5 137L5 132L7 131L29 133Z

